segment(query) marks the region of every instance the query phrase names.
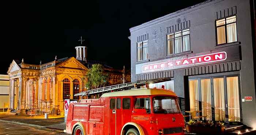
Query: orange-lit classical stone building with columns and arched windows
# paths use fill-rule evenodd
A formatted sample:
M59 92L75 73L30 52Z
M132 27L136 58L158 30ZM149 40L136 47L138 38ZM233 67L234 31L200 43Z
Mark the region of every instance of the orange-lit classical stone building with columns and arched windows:
M87 71L92 64L99 63L87 60L85 46L75 49L76 58L55 58L52 62L40 62L40 65L26 63L23 59L13 60L7 72L10 76L8 113L24 114L26 109L38 108L64 115L64 99L80 98L74 94L87 90ZM109 74L109 85L131 81L131 75L123 73L124 70L104 67L104 72Z

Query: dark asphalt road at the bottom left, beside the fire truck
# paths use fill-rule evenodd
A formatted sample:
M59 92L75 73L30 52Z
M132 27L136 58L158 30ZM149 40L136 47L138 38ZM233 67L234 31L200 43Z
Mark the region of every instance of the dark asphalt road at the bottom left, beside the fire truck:
M70 135L63 130L29 127L12 123L0 123L0 135Z

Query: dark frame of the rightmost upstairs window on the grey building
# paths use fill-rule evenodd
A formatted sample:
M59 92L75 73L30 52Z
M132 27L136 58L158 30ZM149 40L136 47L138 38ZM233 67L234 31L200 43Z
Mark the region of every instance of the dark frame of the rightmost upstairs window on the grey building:
M215 19L215 40L216 40L216 46L221 46L221 45L225 45L225 44L229 44L227 43L227 25L228 24L232 24L232 23L227 23L227 18L230 18L232 16L236 16L236 22L232 22L232 23L236 23L236 30L237 30L237 15L230 15L230 16L226 16L225 18L220 18L220 19ZM217 21L218 20L222 20L222 19L225 19L225 24L223 25L220 25L220 26L217 26ZM222 43L222 44L218 44L218 32L217 32L217 28L218 27L222 27L222 26L225 26L225 43ZM236 31L236 36L237 36L237 31ZM234 42L230 42L230 43L235 43L238 41L238 37L237 37L237 40L234 41Z

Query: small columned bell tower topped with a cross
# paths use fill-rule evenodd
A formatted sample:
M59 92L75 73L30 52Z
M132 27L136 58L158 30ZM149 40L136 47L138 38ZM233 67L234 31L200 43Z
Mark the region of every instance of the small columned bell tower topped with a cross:
M83 41L82 40L82 36L81 39L78 40L79 42L81 42L80 46L76 46L76 59L80 60L80 61L85 61L87 62L87 47L83 46Z

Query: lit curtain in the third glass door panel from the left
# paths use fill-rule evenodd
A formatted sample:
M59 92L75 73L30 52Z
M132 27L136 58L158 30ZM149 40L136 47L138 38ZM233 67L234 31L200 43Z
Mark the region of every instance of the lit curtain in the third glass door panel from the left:
M215 120L225 121L224 78L214 78L213 89Z

